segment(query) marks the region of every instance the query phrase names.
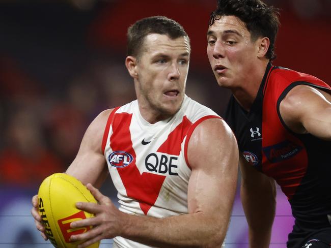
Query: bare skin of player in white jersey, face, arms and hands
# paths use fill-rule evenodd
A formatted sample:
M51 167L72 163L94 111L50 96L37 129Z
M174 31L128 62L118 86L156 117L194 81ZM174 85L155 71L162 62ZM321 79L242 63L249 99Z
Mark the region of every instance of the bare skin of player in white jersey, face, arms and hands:
M134 80L142 117L155 123L171 117L181 107L190 50L186 38L172 40L156 34L148 35L144 46L139 58L128 56L125 64ZM79 209L95 213L95 217L73 222L71 227L94 228L72 235L71 240L86 240L78 247L116 236L157 247L220 247L229 224L238 173L238 148L225 121L206 119L196 127L187 147L191 167L188 213L159 219L121 212L97 189L107 175L101 143L111 111L101 112L92 121L66 171L86 184L98 201L77 203ZM36 199L32 214L45 238Z

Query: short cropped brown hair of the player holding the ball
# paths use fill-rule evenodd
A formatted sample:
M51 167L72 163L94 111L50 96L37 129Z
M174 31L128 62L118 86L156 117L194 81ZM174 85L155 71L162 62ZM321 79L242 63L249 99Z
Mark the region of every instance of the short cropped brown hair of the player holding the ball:
M145 37L150 34L167 35L173 40L185 37L189 43L188 35L177 21L165 16L152 16L136 21L128 28L127 55L138 58L142 53Z

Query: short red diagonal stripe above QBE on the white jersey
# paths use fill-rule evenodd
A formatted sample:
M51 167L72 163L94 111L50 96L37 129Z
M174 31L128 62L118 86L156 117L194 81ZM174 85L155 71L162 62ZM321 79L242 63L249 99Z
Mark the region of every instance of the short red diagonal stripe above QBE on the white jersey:
M157 151L179 156L181 143L191 126L192 122L184 116L182 122L168 135L167 140L163 142Z

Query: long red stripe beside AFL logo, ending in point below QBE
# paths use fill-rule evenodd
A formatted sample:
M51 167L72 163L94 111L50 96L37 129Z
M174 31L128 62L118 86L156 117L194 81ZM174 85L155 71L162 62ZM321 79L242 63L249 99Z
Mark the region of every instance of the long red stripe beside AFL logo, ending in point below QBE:
M125 151L133 157L131 164L123 168L117 168L117 170L126 189L127 196L139 201L141 209L147 215L148 210L154 205L159 195L166 176L148 172L140 174L135 164L136 154L131 141L131 118L132 114L115 114L111 147L113 151Z

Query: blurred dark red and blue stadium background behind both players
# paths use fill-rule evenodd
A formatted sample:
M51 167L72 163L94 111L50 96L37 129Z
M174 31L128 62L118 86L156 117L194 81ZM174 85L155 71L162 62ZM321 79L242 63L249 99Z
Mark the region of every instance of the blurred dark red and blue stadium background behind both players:
M273 64L331 83L331 1L266 2L282 9ZM43 178L66 170L100 111L135 99L124 66L126 29L135 20L165 15L184 26L192 47L187 95L222 115L230 94L217 86L205 51L215 3L0 1L0 248L52 247L34 226L31 197ZM117 202L110 180L102 192ZM278 192L271 248L286 246L293 225L287 199ZM248 247L239 194L226 244Z

